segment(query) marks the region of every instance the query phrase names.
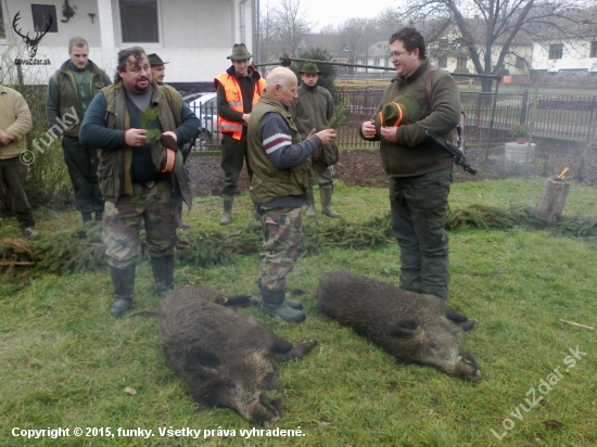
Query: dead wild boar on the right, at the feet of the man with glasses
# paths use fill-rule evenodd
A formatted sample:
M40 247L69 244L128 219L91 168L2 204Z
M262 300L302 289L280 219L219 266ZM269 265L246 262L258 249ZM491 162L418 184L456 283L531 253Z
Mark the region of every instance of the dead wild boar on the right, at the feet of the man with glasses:
M431 295L348 272L328 273L317 301L323 314L377 343L397 361L431 365L449 375L478 382L472 356L459 352L470 320Z

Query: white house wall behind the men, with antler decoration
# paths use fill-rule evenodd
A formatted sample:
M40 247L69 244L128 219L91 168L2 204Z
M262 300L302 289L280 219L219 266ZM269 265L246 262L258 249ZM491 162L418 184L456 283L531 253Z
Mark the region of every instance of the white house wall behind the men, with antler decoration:
M139 43L148 53L156 52L166 65L166 82L205 82L230 66L226 58L231 53L233 43L241 41L240 29L241 0L158 0L160 42ZM98 4L101 2L101 4ZM20 26L23 34L33 35L31 4L41 0L5 0L2 12L7 24L7 39L0 39L1 56L9 61L4 68L4 81L16 78L14 59L27 59L23 39L12 29L12 20L21 11ZM135 43L123 43L118 0L76 0L75 15L68 23L60 22L63 1L43 1L56 8L58 33L48 33L38 47L36 60L49 60L49 65L24 65L22 73L26 84L47 84L50 76L68 59L68 40L81 36L89 42L89 58L114 75L116 54L122 48ZM244 40L253 51L253 1L244 3ZM106 11L109 13L106 13ZM96 14L93 24L89 13ZM111 22L102 21L109 15ZM102 48L103 42L109 42ZM112 46L110 46L110 42ZM107 48L110 47L110 48ZM12 64L10 62L13 62ZM8 82L8 81L7 81Z

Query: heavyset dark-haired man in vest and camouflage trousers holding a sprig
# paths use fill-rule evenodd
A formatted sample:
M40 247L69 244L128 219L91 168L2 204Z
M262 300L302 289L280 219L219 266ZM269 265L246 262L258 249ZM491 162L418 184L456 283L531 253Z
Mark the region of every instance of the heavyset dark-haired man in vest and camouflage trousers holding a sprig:
M151 144L148 129L141 128L141 114L148 108L158 112L148 128L162 132ZM80 130L84 144L93 142L100 149L98 177L106 201L103 239L114 284L110 310L114 317L132 304L141 220L155 290L164 298L174 290L178 197L191 206L189 176L178 149L191 140L199 124L176 90L152 81L142 48L118 52L116 84L93 99ZM174 170L167 168L168 163L156 166L153 155L166 153Z

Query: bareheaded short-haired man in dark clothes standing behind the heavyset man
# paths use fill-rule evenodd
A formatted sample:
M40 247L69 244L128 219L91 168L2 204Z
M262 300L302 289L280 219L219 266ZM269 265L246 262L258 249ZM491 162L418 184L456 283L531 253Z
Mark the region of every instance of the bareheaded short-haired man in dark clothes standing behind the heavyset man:
M104 71L88 59L89 46L81 37L71 39L68 55L71 59L50 78L46 116L50 127L62 133L60 139L75 190L75 206L87 222L91 220L91 213L96 213L96 220L102 219L104 203L98 186L98 150L92 142L80 143L79 129L96 94L112 82Z

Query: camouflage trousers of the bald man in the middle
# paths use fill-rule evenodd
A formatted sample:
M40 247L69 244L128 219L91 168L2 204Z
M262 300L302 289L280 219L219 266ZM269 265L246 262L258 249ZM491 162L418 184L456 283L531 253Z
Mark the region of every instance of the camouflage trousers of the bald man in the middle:
M257 209L264 235L261 280L270 291L284 290L301 252L302 209Z

